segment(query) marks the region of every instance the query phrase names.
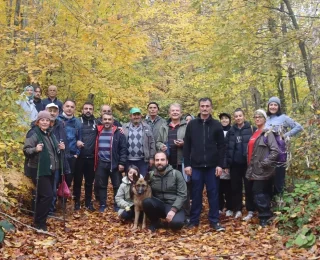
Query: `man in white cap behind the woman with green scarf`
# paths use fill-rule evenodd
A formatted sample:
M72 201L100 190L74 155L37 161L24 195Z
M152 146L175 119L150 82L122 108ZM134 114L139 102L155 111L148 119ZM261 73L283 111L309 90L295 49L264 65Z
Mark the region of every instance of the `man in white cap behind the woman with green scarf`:
M50 214L53 214L53 212L56 210L56 202L57 202L57 188L60 183L60 176L61 174L69 174L70 173L70 167L68 163L68 157L69 157L69 146L68 146L68 140L66 136L66 130L64 128L64 124L58 120L59 115L59 107L55 103L50 103L46 106L46 111L50 113L51 116L51 122L53 122L53 125L51 127L51 133L56 137L56 140L59 143L63 143L65 145L64 151L60 154L60 156L63 159L63 172L60 172L58 170L54 173L54 182L53 182L53 201L52 205L50 207Z

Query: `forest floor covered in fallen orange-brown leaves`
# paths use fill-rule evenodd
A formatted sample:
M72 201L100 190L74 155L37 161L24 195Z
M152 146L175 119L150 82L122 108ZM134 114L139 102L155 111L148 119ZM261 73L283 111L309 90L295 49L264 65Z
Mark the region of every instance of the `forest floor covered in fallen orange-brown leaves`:
M320 241L311 249L287 249L288 237L279 235L274 225L261 228L256 217L246 223L222 216L226 231L211 230L206 199L198 229L159 229L154 233L132 230L132 224L121 223L111 206L105 213L84 208L73 212L73 203L68 204L66 228L60 220L48 220L48 232L55 236L10 221L17 229L6 234L0 259L320 259ZM32 223L31 216L16 209L6 213ZM58 211L57 216L62 213Z

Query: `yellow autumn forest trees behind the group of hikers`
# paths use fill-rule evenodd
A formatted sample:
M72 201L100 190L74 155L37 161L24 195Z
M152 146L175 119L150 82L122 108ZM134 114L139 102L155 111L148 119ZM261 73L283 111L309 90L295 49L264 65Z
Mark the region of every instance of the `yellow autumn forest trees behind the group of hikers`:
M27 127L19 123L22 110L15 100L29 84L58 86L59 99L75 99L78 112L87 100L94 101L96 115L101 104L110 104L121 120L133 106L146 112L150 101L160 104L163 116L172 102L196 114L204 96L212 98L214 116L242 107L250 120L255 109L279 96L284 111L304 126L289 149L290 186L312 180L319 192L319 5L317 0L1 1L0 200L15 204L24 189L21 148ZM313 206L310 216L319 203ZM296 221L293 210L287 209L288 219Z

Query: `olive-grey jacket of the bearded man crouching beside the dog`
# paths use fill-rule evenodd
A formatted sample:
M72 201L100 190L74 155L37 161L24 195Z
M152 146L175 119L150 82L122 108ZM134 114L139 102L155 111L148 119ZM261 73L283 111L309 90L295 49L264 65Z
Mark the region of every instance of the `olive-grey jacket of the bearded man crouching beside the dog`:
M187 199L187 185L182 173L168 165L163 175L152 171L150 176L152 195L171 205L172 210L180 210Z

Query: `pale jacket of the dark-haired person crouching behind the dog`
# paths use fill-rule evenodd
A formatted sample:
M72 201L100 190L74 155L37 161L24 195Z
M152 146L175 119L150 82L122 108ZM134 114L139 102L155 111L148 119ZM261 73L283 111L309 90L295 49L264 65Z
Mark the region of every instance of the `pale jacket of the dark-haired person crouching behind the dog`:
M140 175L140 178L143 178L143 176ZM131 181L129 178L127 176L123 177L117 195L115 196L115 201L120 208L118 210L119 216L123 213L126 207L131 207L134 204L133 198L130 196L130 186Z

